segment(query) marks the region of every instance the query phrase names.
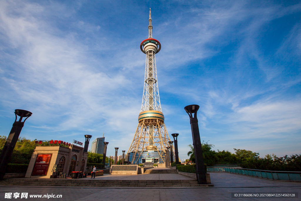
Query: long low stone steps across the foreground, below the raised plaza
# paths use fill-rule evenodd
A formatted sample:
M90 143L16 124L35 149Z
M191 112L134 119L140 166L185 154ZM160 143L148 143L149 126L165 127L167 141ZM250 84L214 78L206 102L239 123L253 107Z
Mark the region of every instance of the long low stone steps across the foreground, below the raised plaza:
M7 179L0 186L197 187L197 180ZM210 185L210 184L209 184ZM208 186L209 186L208 185ZM202 185L203 186L203 185Z

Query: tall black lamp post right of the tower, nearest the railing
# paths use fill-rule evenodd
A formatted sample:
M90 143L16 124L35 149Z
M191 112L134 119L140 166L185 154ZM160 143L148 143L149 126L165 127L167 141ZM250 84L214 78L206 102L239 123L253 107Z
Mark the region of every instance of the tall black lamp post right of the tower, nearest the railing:
M204 166L202 144L200 139L199 125L197 121L197 110L200 108L199 105L187 105L184 109L189 115L191 133L194 147L195 164L197 169L197 181L199 184L207 184L206 181L206 170ZM194 116L192 116L194 114Z

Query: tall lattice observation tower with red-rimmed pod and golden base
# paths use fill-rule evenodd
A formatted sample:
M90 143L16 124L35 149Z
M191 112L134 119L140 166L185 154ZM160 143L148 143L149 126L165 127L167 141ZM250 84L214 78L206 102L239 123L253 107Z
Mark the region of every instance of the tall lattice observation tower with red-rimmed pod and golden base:
M155 54L160 52L161 44L153 39L151 9L148 25L148 39L140 44L146 54L142 106L138 116L138 127L129 148L129 161L133 164L153 162L165 163L165 150L170 141L161 110ZM175 149L173 149L175 150Z

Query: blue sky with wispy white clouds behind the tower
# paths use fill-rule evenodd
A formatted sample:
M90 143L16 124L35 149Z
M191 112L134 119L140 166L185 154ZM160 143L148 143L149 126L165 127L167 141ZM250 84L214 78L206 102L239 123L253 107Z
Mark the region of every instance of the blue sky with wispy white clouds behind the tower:
M127 151L150 7L162 111L170 137L180 133L181 159L191 104L215 150L301 154L299 1L1 0L0 135L25 109L33 115L20 137L84 142L104 131L107 155Z

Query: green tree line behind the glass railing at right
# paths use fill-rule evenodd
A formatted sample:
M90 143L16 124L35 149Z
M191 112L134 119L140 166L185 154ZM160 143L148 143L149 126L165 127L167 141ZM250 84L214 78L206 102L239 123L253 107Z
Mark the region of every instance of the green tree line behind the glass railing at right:
M187 153L190 156L190 161L195 162L194 148L190 148ZM301 155L285 155L277 157L275 154L265 155L259 157L259 153L252 152L246 149L234 149L235 154L225 151L212 150L213 144L208 141L202 143L202 151L204 163L207 167L213 167L215 164L239 164L242 168L257 169L257 170L270 170L270 171L301 171Z

